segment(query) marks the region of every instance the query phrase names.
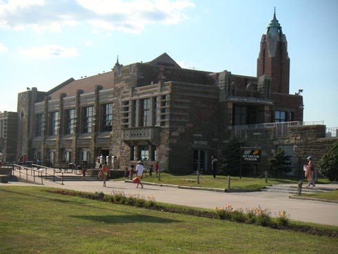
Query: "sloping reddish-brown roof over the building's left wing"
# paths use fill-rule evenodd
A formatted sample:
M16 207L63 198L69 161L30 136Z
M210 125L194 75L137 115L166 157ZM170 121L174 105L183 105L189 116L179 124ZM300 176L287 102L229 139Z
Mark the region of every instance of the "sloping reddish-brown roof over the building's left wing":
M68 79L59 86L48 91L47 94L51 99L59 99L61 93L66 93L67 96L76 95L77 90L83 90L83 92L94 92L95 86L102 86L103 89L112 88L114 84L114 72L109 71L101 73L91 77L85 77L83 79Z

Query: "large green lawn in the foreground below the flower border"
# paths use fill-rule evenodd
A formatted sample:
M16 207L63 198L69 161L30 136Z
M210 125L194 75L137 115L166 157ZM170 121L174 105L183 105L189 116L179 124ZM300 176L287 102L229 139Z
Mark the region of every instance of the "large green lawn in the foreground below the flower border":
M0 253L335 253L335 237L0 187Z

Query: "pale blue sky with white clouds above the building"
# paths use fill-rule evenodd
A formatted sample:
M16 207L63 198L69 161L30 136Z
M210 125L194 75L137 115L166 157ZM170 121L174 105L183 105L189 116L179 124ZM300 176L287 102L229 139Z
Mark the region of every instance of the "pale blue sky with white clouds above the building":
M183 68L255 76L274 8L288 40L290 93L304 121L338 127L337 0L0 0L0 111L27 87L48 91L167 52Z

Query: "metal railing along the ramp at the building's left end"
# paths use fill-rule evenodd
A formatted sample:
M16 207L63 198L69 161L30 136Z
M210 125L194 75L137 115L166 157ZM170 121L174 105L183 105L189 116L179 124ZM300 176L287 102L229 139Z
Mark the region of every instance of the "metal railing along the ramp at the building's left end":
M61 179L61 184L63 185L63 171L54 169L54 168L48 168L46 166L39 166L37 164L32 164L32 166L37 167L37 168L28 168L26 166L18 165L18 164L13 164L12 167L12 175L15 175L15 172L19 172L19 178L21 175L26 175L26 180L30 181L28 177L33 177L33 182L39 181L41 179L41 184L43 185L43 177L47 179L47 177L52 177L53 182L56 182L56 179ZM48 170L52 170L52 174L48 173ZM55 173L61 173L62 176L60 177L59 175L56 175Z

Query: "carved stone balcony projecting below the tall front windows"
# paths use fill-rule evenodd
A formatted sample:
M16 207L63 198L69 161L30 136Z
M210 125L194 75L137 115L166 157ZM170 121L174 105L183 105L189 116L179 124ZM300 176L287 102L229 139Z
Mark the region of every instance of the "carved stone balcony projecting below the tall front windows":
M160 127L132 127L123 128L121 139L128 144L136 144L139 141L147 141L148 144L157 144L160 139Z

